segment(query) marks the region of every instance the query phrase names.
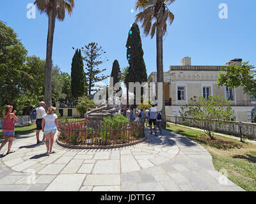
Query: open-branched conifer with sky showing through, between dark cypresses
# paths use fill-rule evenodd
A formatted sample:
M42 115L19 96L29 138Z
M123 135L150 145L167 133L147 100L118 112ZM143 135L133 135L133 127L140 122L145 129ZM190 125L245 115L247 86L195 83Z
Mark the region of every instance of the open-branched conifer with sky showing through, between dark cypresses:
M97 75L103 71L106 71L106 69L100 69L99 65L107 62L108 59L102 59L102 55L106 54L106 52L102 50L101 46L98 47L98 43L89 43L88 45L82 47L82 51L84 54L83 59L86 62L85 75L88 84L88 96L91 96L93 85L96 82L101 82L109 77L109 75L103 74L102 76L97 77Z

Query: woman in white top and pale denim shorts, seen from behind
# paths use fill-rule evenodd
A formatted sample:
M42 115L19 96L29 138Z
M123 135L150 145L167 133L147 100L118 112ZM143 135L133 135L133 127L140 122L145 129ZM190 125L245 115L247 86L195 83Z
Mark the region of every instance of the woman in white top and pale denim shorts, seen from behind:
M49 156L52 152L52 145L54 143L54 135L59 128L58 116L55 114L56 108L50 107L42 120L42 131L45 134L45 144L47 147L47 155Z

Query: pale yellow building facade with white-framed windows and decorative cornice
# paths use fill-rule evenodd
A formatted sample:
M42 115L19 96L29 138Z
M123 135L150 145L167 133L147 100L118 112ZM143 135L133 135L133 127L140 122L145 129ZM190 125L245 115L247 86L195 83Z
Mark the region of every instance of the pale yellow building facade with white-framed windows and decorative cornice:
M242 64L242 59L233 59L226 64ZM250 94L244 94L242 87L228 89L217 85L218 76L223 66L192 66L191 58L184 57L180 66L170 66L164 72L164 98L166 115L180 115L181 106L188 103L193 96L220 96L231 101L236 113L236 120L252 122ZM157 82L157 73L148 77L149 83Z

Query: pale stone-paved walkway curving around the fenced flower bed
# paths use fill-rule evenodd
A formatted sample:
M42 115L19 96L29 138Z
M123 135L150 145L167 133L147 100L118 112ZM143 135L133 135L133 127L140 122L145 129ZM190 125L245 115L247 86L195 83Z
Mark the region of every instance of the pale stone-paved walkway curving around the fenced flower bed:
M132 147L65 149L17 136L15 153L0 154L0 191L244 191L214 170L204 147L164 131ZM42 135L40 136L42 138Z

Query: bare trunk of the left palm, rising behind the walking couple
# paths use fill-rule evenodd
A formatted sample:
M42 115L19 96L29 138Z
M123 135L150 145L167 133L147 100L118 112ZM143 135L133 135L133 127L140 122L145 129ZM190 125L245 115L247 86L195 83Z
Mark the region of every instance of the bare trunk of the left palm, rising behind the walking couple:
M52 45L55 28L55 13L54 13L54 0L50 0L49 8L49 24L48 24L48 36L47 36L47 51L46 51L46 67L45 67L45 103L46 109L52 105Z

